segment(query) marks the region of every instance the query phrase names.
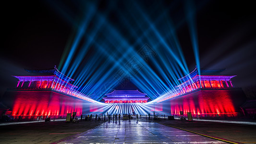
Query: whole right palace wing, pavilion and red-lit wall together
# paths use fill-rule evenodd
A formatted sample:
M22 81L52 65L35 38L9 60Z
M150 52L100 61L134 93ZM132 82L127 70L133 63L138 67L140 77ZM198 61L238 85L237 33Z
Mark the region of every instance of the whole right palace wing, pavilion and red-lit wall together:
M198 70L179 79L175 89L152 101L151 111L159 113L193 115L241 114L240 106L246 96L241 88L234 87L231 79L236 75L223 75L224 70Z

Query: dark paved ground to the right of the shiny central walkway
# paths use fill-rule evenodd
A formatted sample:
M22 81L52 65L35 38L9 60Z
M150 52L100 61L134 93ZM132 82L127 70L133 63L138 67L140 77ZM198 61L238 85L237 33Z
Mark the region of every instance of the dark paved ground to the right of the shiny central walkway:
M159 120L162 124L221 138L235 143L256 144L256 125L212 121ZM244 122L245 123L245 122Z

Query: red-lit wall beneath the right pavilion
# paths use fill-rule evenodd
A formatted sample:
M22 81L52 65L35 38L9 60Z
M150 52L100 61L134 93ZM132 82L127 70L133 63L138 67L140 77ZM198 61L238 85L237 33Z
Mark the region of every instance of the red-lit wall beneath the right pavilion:
M217 114L240 112L245 96L242 90L199 90L163 102L163 111L171 114ZM159 109L159 108L158 108Z

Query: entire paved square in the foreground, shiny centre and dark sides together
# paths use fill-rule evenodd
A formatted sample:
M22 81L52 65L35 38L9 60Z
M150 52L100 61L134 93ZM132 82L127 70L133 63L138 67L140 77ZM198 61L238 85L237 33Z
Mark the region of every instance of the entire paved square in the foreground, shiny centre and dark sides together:
M105 123L104 123L105 122ZM256 125L219 123L209 121L159 120L166 125L206 134L244 144L256 144ZM94 128L94 129L93 129ZM103 137L106 136L106 137ZM0 144L50 144L50 143L134 143L171 144L222 143L214 139L185 132L149 120L117 121L64 121L35 122L0 125ZM174 143L178 141L179 143ZM193 142L193 143L191 143ZM67 144L68 144L67 143Z

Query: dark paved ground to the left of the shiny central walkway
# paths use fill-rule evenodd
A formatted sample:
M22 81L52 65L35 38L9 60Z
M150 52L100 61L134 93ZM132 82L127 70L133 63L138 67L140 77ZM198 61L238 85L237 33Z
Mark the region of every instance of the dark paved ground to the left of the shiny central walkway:
M103 122L67 123L54 121L1 125L0 144L50 144L68 136L88 131Z

